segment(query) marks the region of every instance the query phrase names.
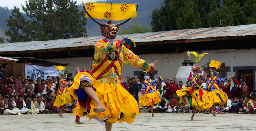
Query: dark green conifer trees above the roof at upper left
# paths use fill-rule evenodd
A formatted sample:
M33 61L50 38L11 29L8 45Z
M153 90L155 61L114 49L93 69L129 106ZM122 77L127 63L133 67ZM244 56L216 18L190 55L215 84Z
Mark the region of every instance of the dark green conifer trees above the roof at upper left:
M45 41L83 37L86 35L84 11L77 9L76 1L71 0L29 0L23 11L14 7L9 29L5 32L11 37L8 42Z

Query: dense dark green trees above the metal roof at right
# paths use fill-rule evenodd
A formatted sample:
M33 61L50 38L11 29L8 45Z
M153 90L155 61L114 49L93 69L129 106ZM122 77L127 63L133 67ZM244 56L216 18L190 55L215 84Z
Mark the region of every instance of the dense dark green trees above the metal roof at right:
M256 23L255 0L164 0L151 15L153 31Z

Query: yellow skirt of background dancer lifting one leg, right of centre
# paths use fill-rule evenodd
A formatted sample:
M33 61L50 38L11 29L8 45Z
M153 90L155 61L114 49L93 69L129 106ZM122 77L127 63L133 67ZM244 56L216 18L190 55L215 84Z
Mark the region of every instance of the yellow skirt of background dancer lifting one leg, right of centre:
M181 103L187 104L183 98L183 96L186 96L189 99L190 105L197 110L208 110L212 107L207 93L202 88L186 87L185 89L177 90L176 93L181 98Z

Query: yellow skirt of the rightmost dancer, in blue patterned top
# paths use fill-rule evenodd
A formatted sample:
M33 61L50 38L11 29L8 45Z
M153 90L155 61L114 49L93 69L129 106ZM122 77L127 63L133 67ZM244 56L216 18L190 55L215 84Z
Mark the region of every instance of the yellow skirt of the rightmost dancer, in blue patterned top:
M227 94L221 89L208 92L207 95L212 105L223 105L228 99Z

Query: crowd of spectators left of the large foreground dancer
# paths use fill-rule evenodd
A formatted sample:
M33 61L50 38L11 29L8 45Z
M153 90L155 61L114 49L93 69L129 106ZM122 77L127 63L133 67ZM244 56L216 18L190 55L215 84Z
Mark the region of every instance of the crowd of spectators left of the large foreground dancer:
M27 76L26 79L17 75L4 78L0 71L0 114L49 114L59 113L60 109L53 106L58 91L59 77L47 76L47 79L38 77L36 82ZM69 80L68 80L69 81ZM71 113L74 105L66 107L62 113Z

